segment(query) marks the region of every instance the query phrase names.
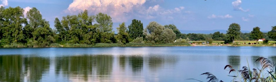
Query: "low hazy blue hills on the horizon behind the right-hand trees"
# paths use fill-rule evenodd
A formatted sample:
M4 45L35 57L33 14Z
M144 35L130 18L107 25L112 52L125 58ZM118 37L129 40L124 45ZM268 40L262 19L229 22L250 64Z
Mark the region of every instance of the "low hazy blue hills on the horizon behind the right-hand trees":
M220 32L220 33L226 33L226 30L180 30L181 33L189 34L189 33L200 33L200 34L210 34L210 33L215 33L215 32ZM251 31L246 31L246 30L241 30L242 33L250 33ZM267 33L268 31L262 31L264 33Z

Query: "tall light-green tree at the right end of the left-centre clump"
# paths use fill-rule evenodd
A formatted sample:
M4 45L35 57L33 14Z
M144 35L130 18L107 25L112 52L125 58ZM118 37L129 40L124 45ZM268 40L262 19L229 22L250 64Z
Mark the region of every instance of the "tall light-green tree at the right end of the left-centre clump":
M96 27L100 33L101 43L110 43L111 39L114 36L114 31L112 31L113 22L110 16L104 13L98 13L96 15Z

